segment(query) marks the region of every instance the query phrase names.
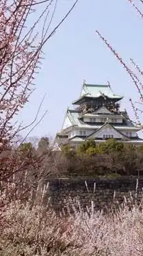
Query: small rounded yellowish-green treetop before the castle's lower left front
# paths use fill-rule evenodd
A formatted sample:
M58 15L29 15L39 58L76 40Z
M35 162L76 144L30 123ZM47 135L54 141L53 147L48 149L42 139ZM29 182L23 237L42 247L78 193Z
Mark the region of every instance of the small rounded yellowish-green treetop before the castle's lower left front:
M77 148L77 154L79 155L89 154L89 152L93 152L93 151L95 153L95 149L96 149L96 143L93 139L83 141L83 143L81 143Z

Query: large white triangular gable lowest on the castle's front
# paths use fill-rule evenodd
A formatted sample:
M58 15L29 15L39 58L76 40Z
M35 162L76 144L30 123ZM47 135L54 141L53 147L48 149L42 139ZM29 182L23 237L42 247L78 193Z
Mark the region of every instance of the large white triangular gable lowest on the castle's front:
M94 138L103 138L103 137L113 137L114 139L126 139L122 133L118 132L113 126L109 124L103 125L99 130L96 130L92 135L88 137L88 139L94 139Z

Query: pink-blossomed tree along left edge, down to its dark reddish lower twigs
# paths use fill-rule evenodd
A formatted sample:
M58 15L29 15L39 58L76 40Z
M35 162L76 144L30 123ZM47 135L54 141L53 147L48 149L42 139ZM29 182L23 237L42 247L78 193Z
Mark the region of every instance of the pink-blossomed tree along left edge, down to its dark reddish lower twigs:
M77 1L51 31L49 27L55 16L57 0L0 1L0 159L4 159L3 165L0 165L0 182L8 190L7 203L12 196L16 198L17 190L19 198L21 194L28 195L31 185L35 183L31 177L36 178L37 182L42 178L38 169L40 157L29 156L31 145L23 144L39 122L36 123L36 120L42 102L31 124L18 124L16 117L34 91L34 79L41 66L44 45L75 8ZM15 148L17 136L26 128L30 128L29 132L19 148ZM19 154L21 148L22 152L27 152L25 157ZM13 177L16 177L14 184ZM0 211L5 208L3 193L0 196Z

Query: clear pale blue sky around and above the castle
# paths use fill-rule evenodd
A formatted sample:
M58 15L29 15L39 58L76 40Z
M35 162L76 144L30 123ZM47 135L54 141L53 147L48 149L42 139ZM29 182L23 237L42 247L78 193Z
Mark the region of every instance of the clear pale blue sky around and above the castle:
M64 16L73 0L59 0L52 26ZM141 6L143 7L143 5ZM133 118L129 98L138 100L138 92L118 60L96 35L99 30L118 54L142 68L142 19L127 0L79 0L73 12L44 46L44 60L35 84L36 91L21 113L20 120L29 124L36 115L42 97L46 97L39 119L30 136L54 137L62 128L66 108L79 97L83 79L91 84L110 82L116 94L124 95L122 109ZM28 132L25 131L25 132Z

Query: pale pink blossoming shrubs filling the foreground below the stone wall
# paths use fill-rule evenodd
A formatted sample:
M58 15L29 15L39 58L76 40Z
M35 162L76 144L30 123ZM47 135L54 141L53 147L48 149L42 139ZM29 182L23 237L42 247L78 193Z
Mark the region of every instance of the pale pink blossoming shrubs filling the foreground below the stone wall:
M1 222L1 256L141 256L143 255L143 213L127 206L109 216L75 210L74 215L56 216L42 206L38 196L18 200L5 210Z

